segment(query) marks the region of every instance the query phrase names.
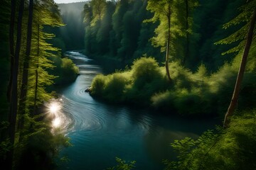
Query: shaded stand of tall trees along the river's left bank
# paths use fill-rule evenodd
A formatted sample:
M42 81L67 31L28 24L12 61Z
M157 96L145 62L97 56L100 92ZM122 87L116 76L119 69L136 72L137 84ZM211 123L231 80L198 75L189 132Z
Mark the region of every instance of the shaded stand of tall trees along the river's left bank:
M53 169L53 157L68 139L50 132L43 103L56 97L47 88L61 72L73 73L71 79L78 74L73 62L62 59L61 50L50 43L54 28L64 23L53 0L4 0L0 8L1 167Z

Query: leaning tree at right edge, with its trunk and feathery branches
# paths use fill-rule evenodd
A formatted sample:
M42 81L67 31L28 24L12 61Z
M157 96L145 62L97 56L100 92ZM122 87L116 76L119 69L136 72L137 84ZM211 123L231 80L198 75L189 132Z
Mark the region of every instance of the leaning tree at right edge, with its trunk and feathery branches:
M238 46L233 47L231 50L228 50L228 52L236 52L241 50L242 45L245 45L245 49L242 55L242 60L240 63L240 69L238 71L238 77L235 82L235 89L233 91L233 96L230 101L230 106L228 107L228 111L225 114L225 119L223 122L223 126L227 127L229 123L229 117L233 115L235 111L235 106L238 103L238 96L240 92L240 86L242 84L242 78L245 72L245 66L247 62L247 57L249 55L250 46L252 44L252 40L255 38L255 21L256 21L256 2L255 1L247 1L247 4L242 6L240 8L241 13L235 17L232 21L229 23L226 23L224 25L224 28L228 28L230 26L238 25L239 23L242 23L244 21L246 24L242 26L238 31L230 35L228 38L225 38L224 40L220 40L217 43L220 44L230 44L235 41L239 41L240 43ZM251 19L249 19L251 18ZM247 36L245 36L247 34ZM228 53L225 52L225 53ZM225 54L224 53L224 54Z

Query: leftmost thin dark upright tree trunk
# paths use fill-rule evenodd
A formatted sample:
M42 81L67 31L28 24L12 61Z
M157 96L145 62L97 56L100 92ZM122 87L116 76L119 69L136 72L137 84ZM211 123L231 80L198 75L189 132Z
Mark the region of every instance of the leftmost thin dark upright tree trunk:
M7 89L7 99L11 102L11 84L14 74L14 25L15 25L15 11L16 11L16 1L11 1L11 18L10 18L10 27L9 27L9 50L10 50L10 79Z

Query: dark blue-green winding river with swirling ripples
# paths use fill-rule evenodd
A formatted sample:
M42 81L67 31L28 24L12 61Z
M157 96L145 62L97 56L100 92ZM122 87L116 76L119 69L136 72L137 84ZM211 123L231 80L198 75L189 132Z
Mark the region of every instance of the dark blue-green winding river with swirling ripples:
M183 137L198 137L214 127L209 120L185 120L140 108L112 106L95 101L85 89L103 72L79 52L67 55L80 68L80 76L61 90L61 128L73 147L63 149L70 162L60 169L107 169L115 157L136 161L136 169L163 169L163 159L174 153L170 143ZM111 66L110 66L111 67Z

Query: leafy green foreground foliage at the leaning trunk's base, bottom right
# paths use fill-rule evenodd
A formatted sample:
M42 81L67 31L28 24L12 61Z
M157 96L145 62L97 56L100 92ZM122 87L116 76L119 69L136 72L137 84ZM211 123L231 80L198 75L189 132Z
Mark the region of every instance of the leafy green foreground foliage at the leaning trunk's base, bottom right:
M255 110L235 113L226 130L208 130L197 140L186 137L171 144L176 161L166 169L255 169Z

